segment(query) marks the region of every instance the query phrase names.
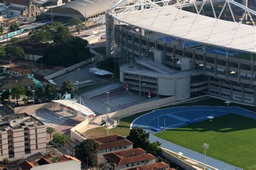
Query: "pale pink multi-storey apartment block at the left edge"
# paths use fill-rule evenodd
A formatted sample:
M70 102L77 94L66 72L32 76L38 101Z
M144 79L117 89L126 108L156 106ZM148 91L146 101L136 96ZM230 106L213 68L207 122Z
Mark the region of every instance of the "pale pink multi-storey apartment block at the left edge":
M26 113L0 117L0 161L46 152L45 125Z

